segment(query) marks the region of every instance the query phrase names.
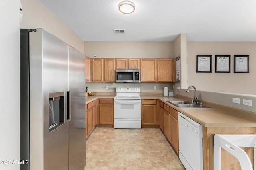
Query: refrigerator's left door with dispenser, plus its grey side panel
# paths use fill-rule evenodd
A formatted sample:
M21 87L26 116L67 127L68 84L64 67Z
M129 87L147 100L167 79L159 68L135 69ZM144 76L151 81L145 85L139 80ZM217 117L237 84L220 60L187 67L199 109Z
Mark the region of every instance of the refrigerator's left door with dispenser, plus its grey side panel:
M37 29L30 34L31 170L68 170L67 91L68 45Z

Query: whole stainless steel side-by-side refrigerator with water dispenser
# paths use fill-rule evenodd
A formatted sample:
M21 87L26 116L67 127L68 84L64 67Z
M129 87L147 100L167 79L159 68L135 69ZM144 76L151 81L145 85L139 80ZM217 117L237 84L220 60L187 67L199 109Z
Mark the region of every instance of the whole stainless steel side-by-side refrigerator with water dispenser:
M21 170L85 165L84 55L43 29L20 29Z

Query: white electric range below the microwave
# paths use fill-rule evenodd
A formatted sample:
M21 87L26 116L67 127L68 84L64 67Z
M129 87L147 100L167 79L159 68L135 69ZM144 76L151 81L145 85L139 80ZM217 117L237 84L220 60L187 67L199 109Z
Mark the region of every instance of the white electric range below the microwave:
M114 98L114 128L141 129L139 87L117 87Z

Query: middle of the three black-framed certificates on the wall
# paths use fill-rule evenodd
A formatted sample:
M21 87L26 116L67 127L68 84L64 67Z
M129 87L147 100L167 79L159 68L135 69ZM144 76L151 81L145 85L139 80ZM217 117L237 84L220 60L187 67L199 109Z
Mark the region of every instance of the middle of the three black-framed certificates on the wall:
M215 55L215 72L230 73L230 55Z

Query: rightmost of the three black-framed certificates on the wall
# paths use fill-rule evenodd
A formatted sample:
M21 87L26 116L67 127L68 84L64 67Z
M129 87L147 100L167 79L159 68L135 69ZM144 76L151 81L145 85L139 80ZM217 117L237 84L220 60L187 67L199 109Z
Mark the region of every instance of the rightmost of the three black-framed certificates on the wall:
M249 55L234 55L234 73L249 73Z

